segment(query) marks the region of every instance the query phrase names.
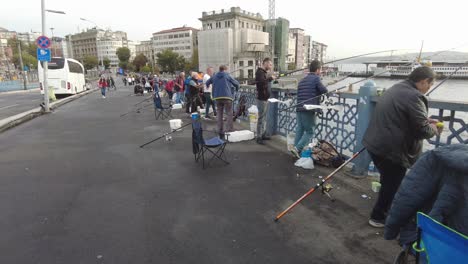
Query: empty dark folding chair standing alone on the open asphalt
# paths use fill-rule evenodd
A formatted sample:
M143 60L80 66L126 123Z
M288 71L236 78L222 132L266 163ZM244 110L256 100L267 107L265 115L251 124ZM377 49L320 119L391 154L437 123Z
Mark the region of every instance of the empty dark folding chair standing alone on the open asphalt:
M229 162L226 161L226 155L224 153L227 140L222 140L219 136L205 140L203 137L203 128L200 118L193 120L192 129L192 147L193 154L195 155L195 162L198 162L201 159L203 169L205 169L205 155L207 153L211 153L212 157L208 161L207 165L209 165L215 158L218 158L226 165L229 164Z

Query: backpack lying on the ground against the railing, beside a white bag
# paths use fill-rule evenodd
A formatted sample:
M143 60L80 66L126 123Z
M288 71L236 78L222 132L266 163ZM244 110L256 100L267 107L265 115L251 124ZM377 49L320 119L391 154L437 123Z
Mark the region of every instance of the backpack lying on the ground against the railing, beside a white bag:
M325 167L338 168L345 162L345 158L335 146L325 140L319 140L319 143L312 149L312 158L316 163Z

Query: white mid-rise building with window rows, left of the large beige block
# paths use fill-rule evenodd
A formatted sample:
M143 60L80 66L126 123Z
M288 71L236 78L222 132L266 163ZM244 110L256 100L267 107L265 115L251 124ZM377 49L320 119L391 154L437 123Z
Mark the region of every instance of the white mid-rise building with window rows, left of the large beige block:
M191 59L197 49L198 29L192 27L179 27L153 33L153 50L156 56L166 49L172 50L186 59Z

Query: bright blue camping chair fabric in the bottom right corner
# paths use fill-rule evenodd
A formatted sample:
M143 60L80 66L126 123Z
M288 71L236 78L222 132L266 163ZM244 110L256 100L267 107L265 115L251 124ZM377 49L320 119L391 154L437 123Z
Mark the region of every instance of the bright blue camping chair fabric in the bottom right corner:
M415 259L409 257L408 249L403 250L395 260L406 263L468 263L468 237L447 227L424 213L418 212L418 240L412 249Z

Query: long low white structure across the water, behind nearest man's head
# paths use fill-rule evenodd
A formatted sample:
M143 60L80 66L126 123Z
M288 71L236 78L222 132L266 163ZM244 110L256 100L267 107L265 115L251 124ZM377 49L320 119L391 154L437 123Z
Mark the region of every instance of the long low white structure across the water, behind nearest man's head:
M410 60L383 60L365 62L364 64L369 65L372 73L378 77L406 78L417 67L429 66L437 73L438 78L450 76L458 70L451 78L468 79L468 64L465 61L422 61L419 63Z

